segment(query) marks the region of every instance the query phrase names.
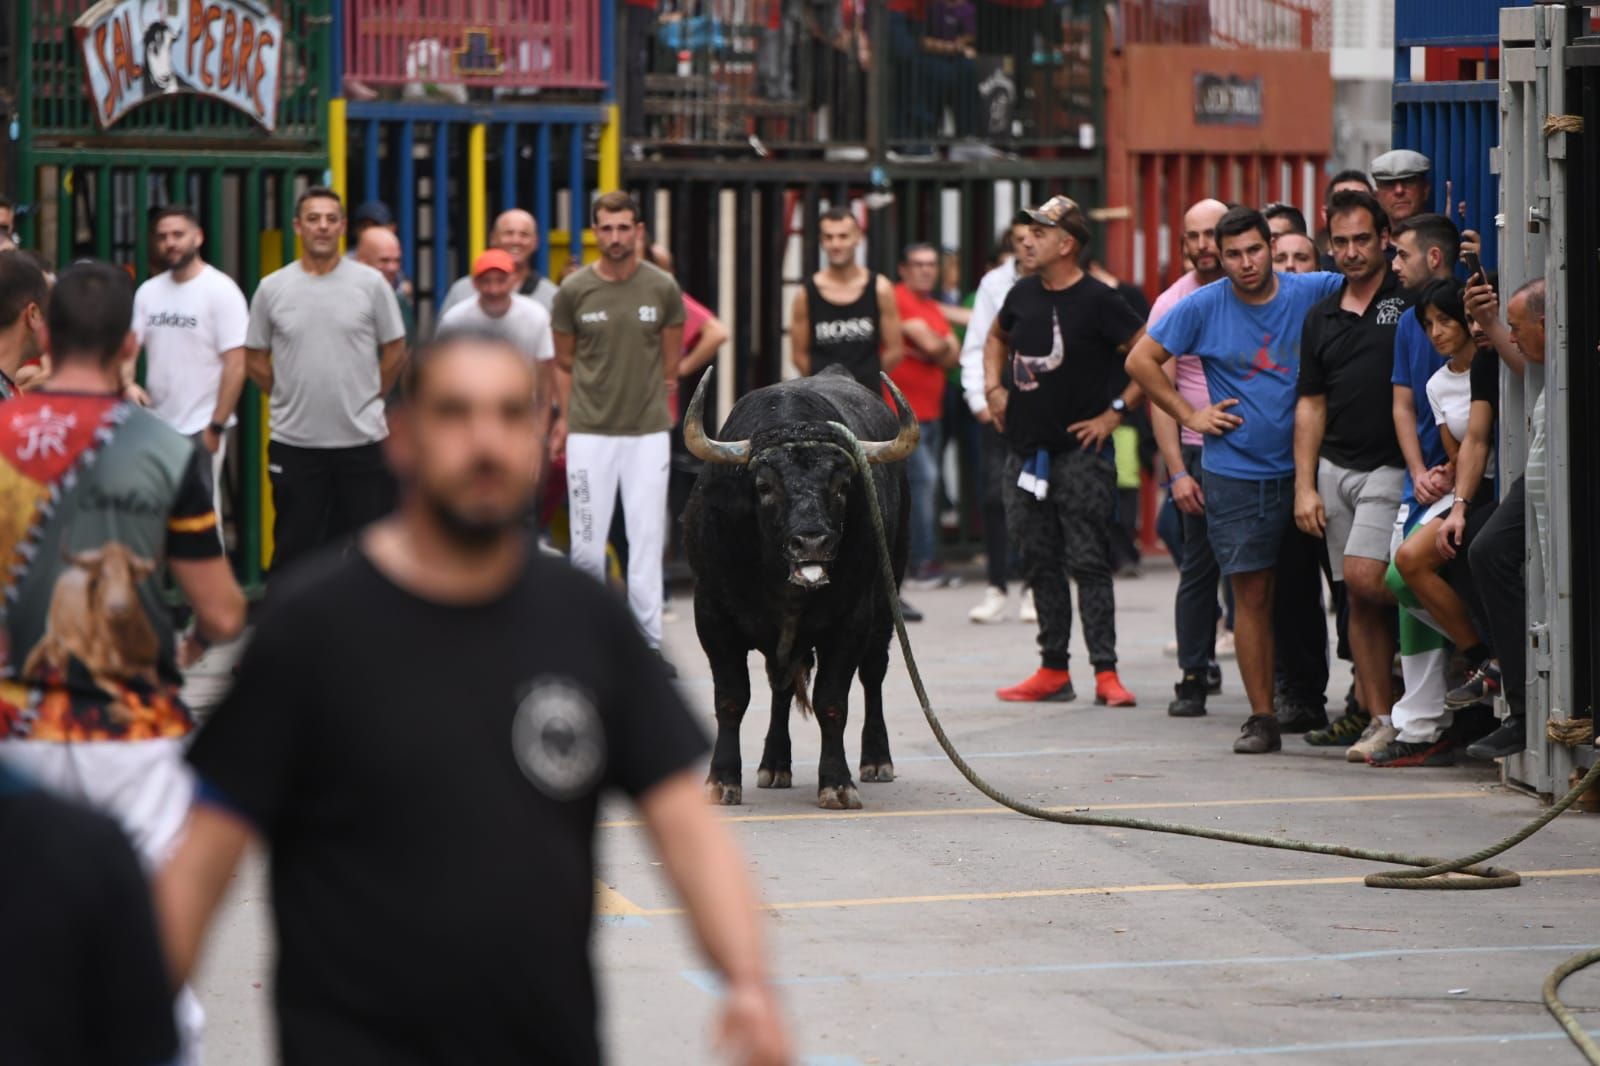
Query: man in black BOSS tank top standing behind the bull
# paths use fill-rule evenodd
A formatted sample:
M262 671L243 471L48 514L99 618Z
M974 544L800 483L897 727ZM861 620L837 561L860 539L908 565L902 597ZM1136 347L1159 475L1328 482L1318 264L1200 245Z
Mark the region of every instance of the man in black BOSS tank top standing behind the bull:
M821 229L827 269L805 280L789 320L795 370L811 376L842 365L882 392L878 371L891 370L904 354L894 287L856 262L862 234L848 208L826 211Z

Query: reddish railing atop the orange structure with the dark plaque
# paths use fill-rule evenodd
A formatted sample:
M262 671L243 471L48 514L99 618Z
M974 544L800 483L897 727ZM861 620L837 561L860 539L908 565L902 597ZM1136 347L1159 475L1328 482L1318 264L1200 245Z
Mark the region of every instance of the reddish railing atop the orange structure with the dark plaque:
M1122 0L1118 43L1328 51L1331 0Z

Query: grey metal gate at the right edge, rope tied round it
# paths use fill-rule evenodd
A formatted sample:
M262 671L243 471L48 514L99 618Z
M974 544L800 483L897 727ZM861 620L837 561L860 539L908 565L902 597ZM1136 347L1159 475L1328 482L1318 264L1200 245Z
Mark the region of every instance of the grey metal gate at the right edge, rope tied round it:
M1597 62L1594 48L1568 58L1586 26L1579 8L1539 5L1501 13L1501 291L1546 279L1546 363L1530 363L1526 379L1502 375L1501 469L1509 477L1525 466L1539 389L1546 391L1549 440L1549 503L1541 506L1530 493L1526 514L1530 751L1507 759L1506 773L1546 795L1568 787L1574 762L1594 759L1594 747L1566 747L1546 735L1550 722L1592 717L1597 669L1592 637L1600 600L1584 546L1594 538L1600 499L1587 461L1600 442L1582 413L1600 391L1594 368L1600 230L1590 203L1592 171L1582 166L1592 165L1595 149L1579 130L1582 118L1592 130L1600 110L1594 110L1594 72L1584 66ZM1568 94L1568 85L1576 91ZM1586 110L1570 114L1578 107Z

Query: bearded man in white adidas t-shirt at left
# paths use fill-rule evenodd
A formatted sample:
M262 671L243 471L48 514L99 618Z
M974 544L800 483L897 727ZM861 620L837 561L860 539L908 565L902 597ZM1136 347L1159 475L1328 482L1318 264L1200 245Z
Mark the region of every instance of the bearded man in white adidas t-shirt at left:
M218 485L227 427L245 387L245 330L250 307L234 279L200 258L205 230L187 206L155 216L155 256L166 264L133 298L133 331L144 346L150 410L206 455L202 474L221 514Z

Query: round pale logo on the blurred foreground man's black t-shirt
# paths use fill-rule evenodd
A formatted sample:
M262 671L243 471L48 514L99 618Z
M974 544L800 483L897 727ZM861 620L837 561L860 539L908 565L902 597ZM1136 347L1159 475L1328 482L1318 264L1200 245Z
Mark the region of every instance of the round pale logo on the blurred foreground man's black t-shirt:
M510 727L523 775L554 800L587 794L605 771L605 728L576 682L544 677L528 685Z

